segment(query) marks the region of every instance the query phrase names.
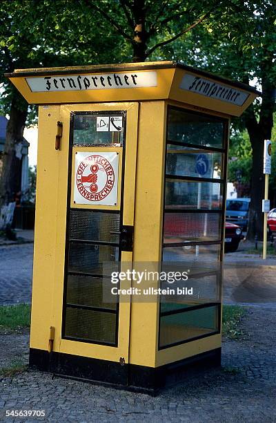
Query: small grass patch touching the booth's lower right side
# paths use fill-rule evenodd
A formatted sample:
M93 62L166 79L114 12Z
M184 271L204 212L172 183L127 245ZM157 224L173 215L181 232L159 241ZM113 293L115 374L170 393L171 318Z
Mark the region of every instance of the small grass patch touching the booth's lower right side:
M223 306L222 310L222 335L228 339L239 339L242 335L239 322L246 314L246 309L242 306Z

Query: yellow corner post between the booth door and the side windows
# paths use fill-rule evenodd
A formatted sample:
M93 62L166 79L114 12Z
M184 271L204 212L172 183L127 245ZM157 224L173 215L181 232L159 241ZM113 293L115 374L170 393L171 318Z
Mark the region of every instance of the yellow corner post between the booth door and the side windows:
M165 102L140 104L135 191L133 262L161 259L164 195ZM148 286L141 283L141 289ZM158 336L157 296L154 303L132 302L130 363L155 367Z

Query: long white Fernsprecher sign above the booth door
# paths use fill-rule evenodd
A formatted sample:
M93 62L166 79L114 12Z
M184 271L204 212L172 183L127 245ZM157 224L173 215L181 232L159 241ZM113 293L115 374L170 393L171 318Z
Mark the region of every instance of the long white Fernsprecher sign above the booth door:
M146 86L157 86L156 71L27 77L25 79L32 93L108 90L110 88L144 88Z

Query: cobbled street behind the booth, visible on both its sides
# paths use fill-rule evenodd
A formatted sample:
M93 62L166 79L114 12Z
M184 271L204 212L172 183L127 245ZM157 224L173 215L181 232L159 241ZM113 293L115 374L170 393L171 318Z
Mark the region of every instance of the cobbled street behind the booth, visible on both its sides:
M0 246L0 305L30 303L32 250L32 244ZM275 275L276 257L262 261L242 252L226 254L224 301L276 308Z

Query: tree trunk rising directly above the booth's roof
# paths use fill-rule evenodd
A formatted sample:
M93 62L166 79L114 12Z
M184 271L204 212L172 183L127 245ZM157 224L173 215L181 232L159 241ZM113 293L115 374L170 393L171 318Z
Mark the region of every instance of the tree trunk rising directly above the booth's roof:
M133 2L133 16L135 18L133 47L133 62L145 62L146 44L148 41L148 32L145 28L145 0L135 0Z

